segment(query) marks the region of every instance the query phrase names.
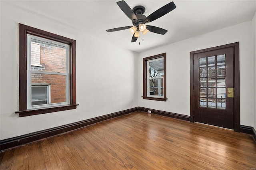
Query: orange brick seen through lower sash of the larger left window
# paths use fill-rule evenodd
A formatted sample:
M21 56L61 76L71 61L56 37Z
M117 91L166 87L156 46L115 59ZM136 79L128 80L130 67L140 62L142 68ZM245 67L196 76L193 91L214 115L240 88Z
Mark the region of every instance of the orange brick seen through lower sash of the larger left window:
M66 75L32 73L31 83L50 84L50 103L66 102Z

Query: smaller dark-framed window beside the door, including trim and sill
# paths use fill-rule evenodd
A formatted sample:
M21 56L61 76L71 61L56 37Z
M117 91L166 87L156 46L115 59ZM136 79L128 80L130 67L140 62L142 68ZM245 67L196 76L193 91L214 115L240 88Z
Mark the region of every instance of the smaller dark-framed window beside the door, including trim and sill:
M143 99L166 101L166 53L143 59Z

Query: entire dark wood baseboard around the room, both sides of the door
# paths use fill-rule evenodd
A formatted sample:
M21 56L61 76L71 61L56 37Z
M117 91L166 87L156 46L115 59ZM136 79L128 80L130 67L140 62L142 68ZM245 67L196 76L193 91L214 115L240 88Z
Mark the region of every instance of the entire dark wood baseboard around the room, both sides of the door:
M62 133L66 133L72 130L76 130L78 128L82 128L82 127L86 127L88 125L92 125L94 123L99 123L102 121L106 121L108 119L112 119L115 117L119 117L122 115L126 115L135 111L151 111L151 113L153 114L157 114L157 115L162 115L162 116L166 116L166 117L171 117L171 118L175 118L175 119L181 119L184 121L190 121L190 116L187 115L180 115L177 113L171 113L171 112L166 112L166 111L160 111L160 110L155 110L155 109L148 109L145 107L135 107L132 109L127 109L124 111L120 111L120 112L115 112L115 113L111 113L108 115L103 115L100 117L95 117L92 119L87 119L84 121L79 121L79 122L75 122L75 123L70 123L68 125L63 125L60 127L54 127L54 128L49 128L46 130L40 130L38 132L33 132L33 133L29 133L29 134L24 134L21 136L16 136L13 138L8 138L8 139L3 139L0 140L0 152L3 152L5 150L8 150L10 148L14 148L17 146L21 146L24 144L28 144L31 142L35 142L37 140L42 140L44 138L48 138L51 136L56 136ZM254 138L254 141L256 142L256 130L253 127L248 127L248 126L244 126L244 125L240 125L240 132L242 133L246 133L246 134L252 134L252 138Z

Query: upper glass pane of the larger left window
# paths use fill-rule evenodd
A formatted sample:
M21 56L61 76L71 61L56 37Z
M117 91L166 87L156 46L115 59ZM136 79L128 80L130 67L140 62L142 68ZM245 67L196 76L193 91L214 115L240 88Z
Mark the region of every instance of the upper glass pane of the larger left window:
M31 70L66 73L66 48L42 41L31 42Z

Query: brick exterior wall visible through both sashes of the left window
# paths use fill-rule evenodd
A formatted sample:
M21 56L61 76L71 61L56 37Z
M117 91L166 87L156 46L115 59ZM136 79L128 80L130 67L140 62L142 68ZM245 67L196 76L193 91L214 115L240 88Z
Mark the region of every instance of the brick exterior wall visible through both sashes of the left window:
M31 70L66 73L65 48L32 42L31 60ZM33 66L33 64L42 66ZM51 103L66 102L65 75L32 73L31 79L32 83L50 83Z

